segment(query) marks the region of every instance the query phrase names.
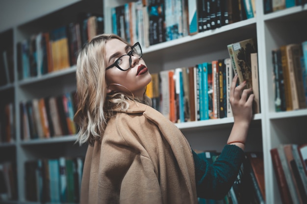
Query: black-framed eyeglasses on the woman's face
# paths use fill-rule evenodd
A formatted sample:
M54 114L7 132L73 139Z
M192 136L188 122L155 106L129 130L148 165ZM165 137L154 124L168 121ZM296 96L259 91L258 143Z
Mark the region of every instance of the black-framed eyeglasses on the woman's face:
M105 68L105 70L115 66L122 71L127 71L129 68L131 68L131 62L132 62L131 55L137 57L138 59L141 59L143 54L139 42L131 46L131 51L129 51L128 54L120 56L112 65Z

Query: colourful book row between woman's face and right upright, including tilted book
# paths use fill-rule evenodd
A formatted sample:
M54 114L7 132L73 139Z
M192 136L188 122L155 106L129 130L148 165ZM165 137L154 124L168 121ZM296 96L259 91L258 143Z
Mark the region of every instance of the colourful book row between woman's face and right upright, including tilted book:
M254 45L256 40L248 39L231 44L231 58L152 73L146 94L153 108L174 123L231 117L230 86L233 74L238 73L240 82L246 81L246 88L253 88L253 111L260 113Z

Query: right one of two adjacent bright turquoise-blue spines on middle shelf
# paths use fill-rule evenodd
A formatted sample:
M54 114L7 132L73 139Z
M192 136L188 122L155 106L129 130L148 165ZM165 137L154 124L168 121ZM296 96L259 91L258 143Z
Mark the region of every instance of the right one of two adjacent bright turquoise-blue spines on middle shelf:
M211 63L207 62L203 63L204 120L209 119L208 69L211 67L212 67Z

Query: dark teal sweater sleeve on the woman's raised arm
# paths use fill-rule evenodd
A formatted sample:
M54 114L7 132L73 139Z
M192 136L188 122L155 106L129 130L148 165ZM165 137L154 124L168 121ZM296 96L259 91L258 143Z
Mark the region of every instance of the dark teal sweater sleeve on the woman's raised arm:
M244 152L235 145L226 145L218 159L209 164L194 151L197 196L206 199L223 199L230 190L240 166Z

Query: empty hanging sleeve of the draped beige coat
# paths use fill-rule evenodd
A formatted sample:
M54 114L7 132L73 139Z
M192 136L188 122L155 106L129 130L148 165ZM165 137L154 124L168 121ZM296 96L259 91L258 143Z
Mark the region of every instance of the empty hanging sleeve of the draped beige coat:
M99 168L102 191L98 192L103 192L103 197L99 200L107 204L162 203L153 162L137 134L125 128L123 121L115 124L112 136L102 140Z

